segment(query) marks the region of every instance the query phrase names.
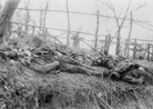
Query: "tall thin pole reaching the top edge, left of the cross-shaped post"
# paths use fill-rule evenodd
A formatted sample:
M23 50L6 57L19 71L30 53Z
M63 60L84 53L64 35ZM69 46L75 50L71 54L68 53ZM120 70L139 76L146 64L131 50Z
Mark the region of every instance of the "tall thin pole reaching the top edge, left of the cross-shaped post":
M69 14L69 0L67 0L67 17L68 17L68 36L67 36L67 46L70 44L70 14Z

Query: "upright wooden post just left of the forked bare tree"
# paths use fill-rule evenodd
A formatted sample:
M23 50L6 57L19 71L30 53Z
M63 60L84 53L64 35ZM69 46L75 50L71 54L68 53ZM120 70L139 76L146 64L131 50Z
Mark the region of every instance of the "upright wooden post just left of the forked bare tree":
M95 43L94 43L94 49L98 48L98 40L99 40L99 24L100 24L100 11L96 10L96 30L95 30Z

